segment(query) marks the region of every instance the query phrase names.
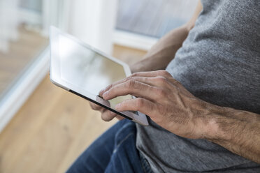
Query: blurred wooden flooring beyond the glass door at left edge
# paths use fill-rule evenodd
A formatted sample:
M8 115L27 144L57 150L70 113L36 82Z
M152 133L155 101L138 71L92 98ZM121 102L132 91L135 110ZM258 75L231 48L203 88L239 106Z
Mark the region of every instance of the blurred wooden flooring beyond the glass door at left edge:
M18 39L10 41L7 53L0 52L0 97L47 45L48 38L38 32L18 28Z

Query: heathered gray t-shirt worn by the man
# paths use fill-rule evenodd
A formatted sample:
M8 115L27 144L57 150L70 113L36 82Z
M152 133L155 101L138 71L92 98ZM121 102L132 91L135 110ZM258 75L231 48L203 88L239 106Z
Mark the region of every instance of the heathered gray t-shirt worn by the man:
M260 114L260 1L202 0L195 27L166 70L194 96ZM260 165L208 140L150 120L136 146L154 172L260 172Z

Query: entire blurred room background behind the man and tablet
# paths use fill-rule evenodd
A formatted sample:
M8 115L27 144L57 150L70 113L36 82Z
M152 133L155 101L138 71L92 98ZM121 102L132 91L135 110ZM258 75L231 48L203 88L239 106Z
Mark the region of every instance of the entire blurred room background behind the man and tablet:
M196 3L0 0L0 172L65 172L116 122L50 83L50 25L131 64L185 24Z

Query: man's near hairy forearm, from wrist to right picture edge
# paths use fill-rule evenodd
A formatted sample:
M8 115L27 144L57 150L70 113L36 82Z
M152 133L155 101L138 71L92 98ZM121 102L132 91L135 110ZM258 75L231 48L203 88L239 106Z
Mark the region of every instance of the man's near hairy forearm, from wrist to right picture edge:
M218 106L208 110L205 139L260 163L260 115Z

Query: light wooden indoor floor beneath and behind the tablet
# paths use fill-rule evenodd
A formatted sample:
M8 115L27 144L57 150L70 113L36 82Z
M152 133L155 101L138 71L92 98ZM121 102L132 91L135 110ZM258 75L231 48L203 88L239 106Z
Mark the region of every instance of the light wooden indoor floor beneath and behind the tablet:
M127 63L144 54L118 45L114 51ZM55 87L46 76L0 134L0 172L65 172L115 122L101 121L87 100Z

